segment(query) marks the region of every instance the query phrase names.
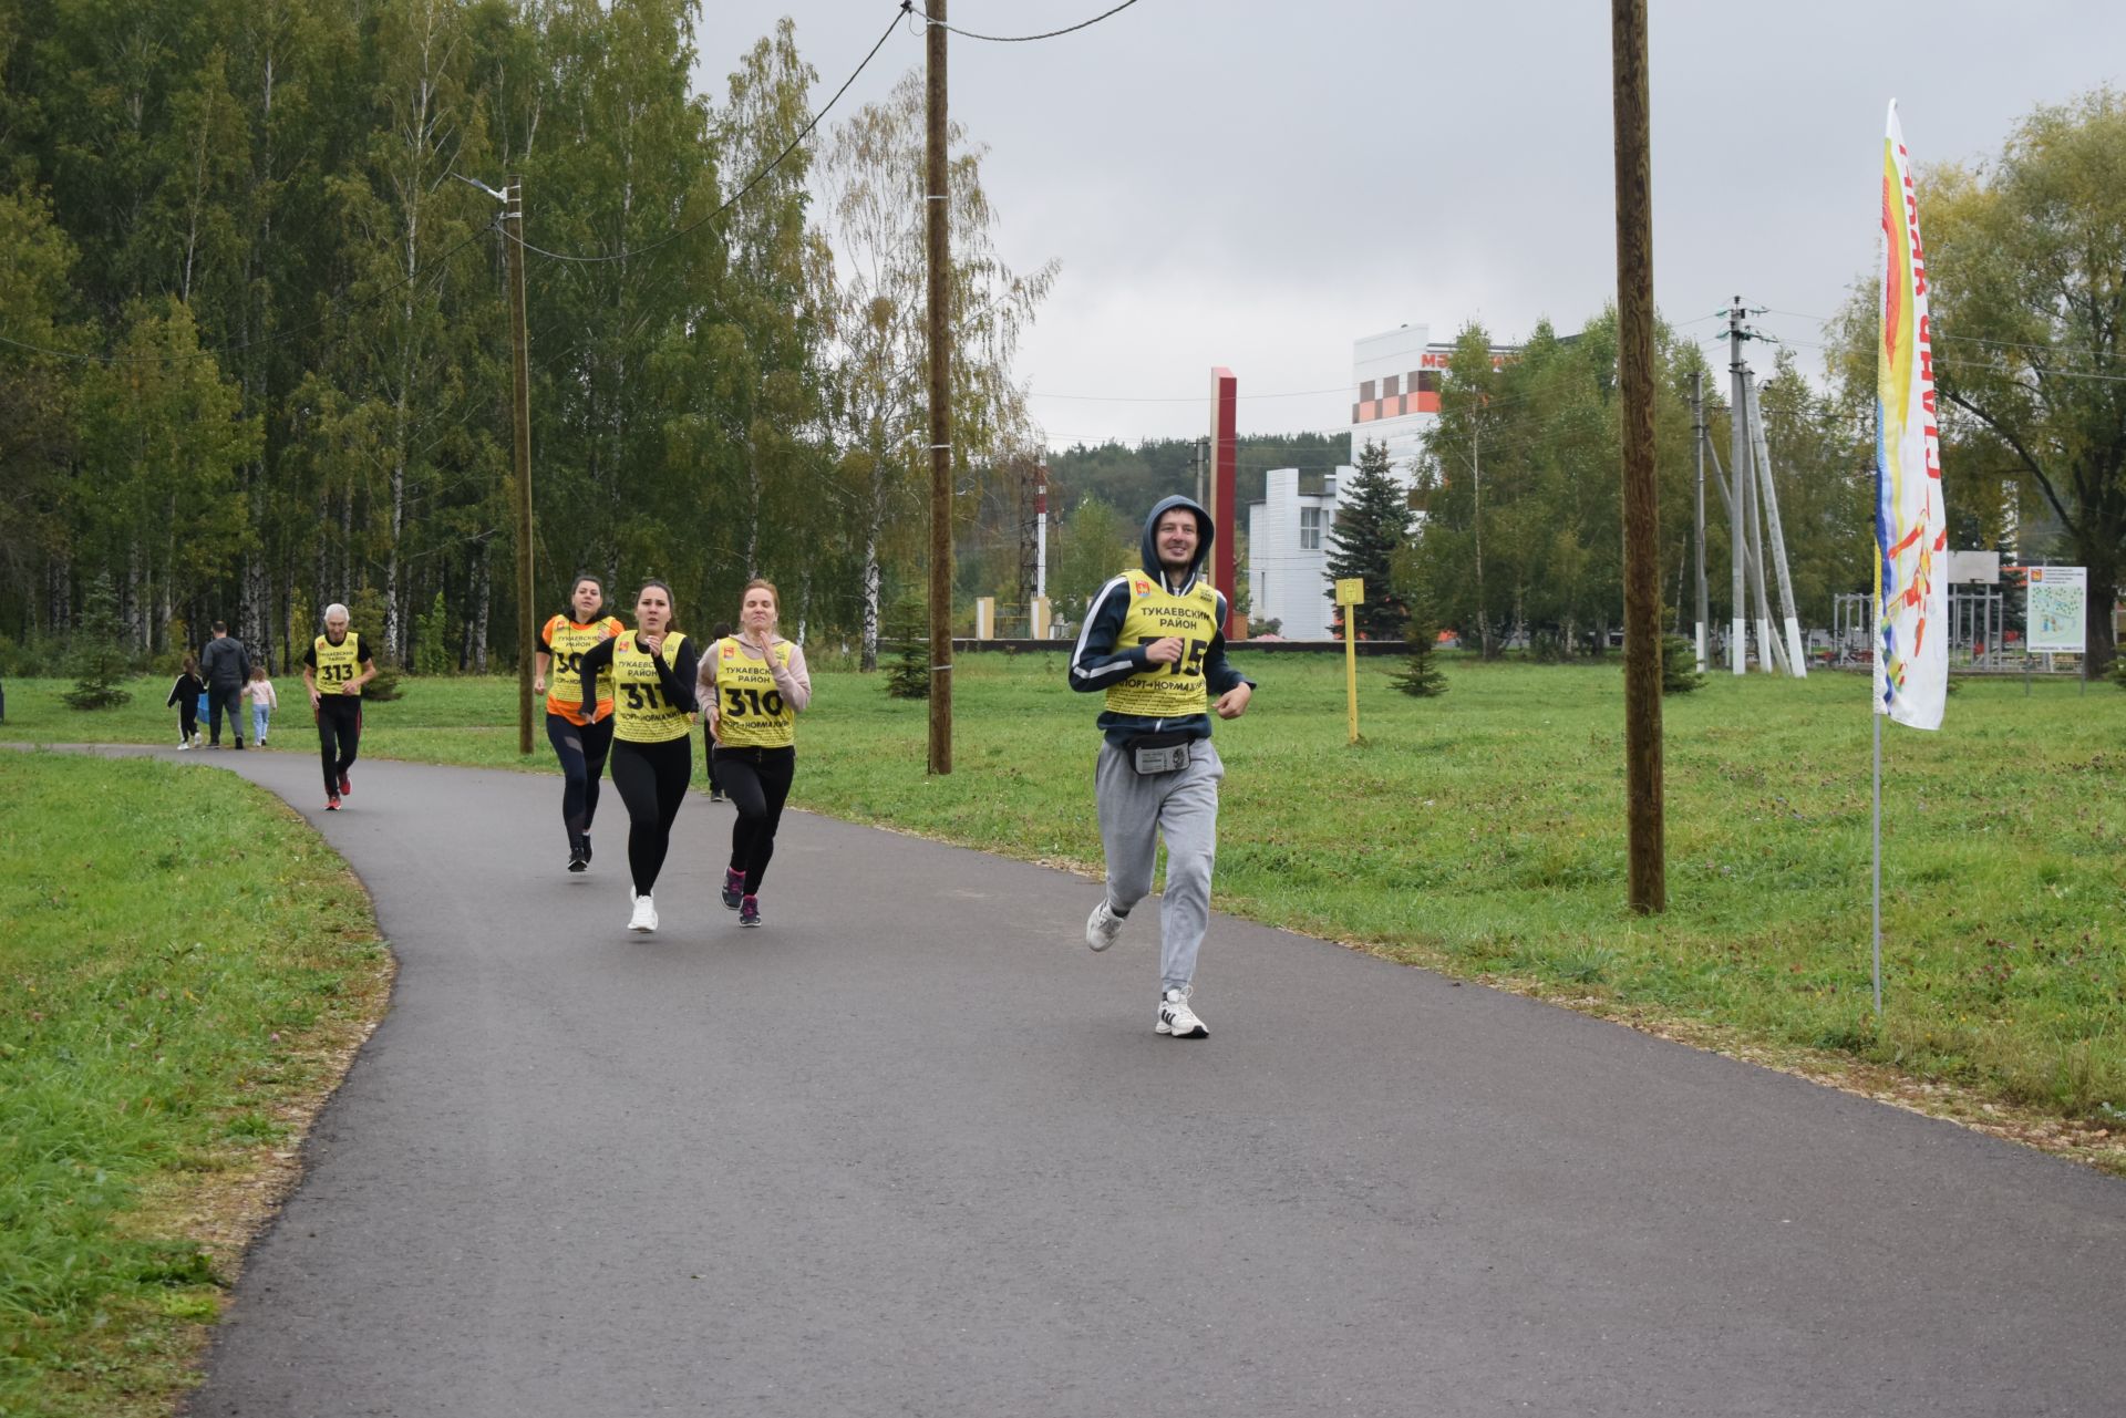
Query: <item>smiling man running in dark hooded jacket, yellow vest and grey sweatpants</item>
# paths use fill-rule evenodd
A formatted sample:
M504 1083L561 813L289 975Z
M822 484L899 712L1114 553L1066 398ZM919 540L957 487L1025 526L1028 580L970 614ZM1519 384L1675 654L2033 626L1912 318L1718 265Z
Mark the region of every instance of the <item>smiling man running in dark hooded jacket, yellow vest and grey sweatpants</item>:
M1108 893L1084 923L1084 942L1106 950L1129 910L1152 889L1161 833L1167 891L1161 912L1157 1033L1210 1033L1188 995L1197 948L1210 925L1210 874L1218 853L1218 780L1210 710L1239 719L1254 693L1225 659L1225 595L1203 574L1214 527L1188 497L1167 497L1144 519L1142 568L1099 589L1069 657L1069 685L1103 693L1101 746L1093 770ZM1212 699L1216 695L1216 702Z

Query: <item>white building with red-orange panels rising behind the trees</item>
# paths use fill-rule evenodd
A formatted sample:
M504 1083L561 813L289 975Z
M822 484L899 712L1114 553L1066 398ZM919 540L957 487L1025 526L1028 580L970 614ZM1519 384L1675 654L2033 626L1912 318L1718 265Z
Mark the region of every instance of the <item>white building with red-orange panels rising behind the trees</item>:
M1395 476L1410 487L1424 432L1439 421L1439 376L1454 353L1435 344L1429 325L1399 325L1352 342L1350 457L1367 442L1388 449ZM1492 347L1492 366L1514 351ZM1286 640L1335 636L1329 600L1329 531L1335 527L1348 463L1333 470L1273 468L1263 500L1248 504L1248 625L1278 621Z

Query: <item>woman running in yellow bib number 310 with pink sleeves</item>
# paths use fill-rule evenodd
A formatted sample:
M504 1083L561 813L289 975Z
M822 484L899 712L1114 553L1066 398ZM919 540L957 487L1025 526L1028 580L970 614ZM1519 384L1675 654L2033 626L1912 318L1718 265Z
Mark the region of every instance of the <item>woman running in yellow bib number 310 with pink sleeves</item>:
M746 583L738 634L708 648L697 682L716 740L716 782L738 808L723 872L723 904L738 925L761 923L761 878L797 774L797 712L812 702L804 651L776 634L776 612L774 585Z

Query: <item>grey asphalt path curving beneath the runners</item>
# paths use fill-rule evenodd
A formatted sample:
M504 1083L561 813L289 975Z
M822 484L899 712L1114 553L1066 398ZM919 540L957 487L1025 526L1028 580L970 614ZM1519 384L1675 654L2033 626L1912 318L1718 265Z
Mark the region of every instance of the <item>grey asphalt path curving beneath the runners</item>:
M1095 957L1089 882L808 814L740 931L702 795L629 938L610 789L568 876L559 778L185 761L400 959L193 1416L2126 1403L2126 1184L2069 1163L1229 918L1154 1037L1150 912Z

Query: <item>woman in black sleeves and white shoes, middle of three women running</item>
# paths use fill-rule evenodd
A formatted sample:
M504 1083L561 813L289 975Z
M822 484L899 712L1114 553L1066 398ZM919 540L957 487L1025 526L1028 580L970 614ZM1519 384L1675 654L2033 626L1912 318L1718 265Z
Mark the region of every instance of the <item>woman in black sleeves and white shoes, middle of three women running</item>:
M636 595L636 629L583 653L583 704L597 704L597 674L612 670L612 787L627 804L627 872L634 878L629 931L657 929L651 891L693 778L697 655L693 642L672 629L672 587L648 580Z

